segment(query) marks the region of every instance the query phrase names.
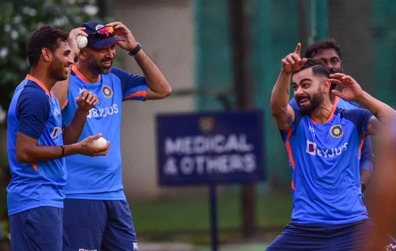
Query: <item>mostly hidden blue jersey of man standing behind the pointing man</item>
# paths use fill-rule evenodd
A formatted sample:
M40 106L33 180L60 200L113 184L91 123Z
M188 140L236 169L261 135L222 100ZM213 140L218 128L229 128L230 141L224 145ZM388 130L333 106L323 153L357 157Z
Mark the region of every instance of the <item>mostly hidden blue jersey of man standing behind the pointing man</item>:
M295 98L289 101L289 105L293 108L299 108ZM360 106L352 101L335 97L334 105L345 110L360 108ZM370 173L374 171L374 154L371 146L370 137L366 137L362 146L362 154L360 158L360 169L366 169Z

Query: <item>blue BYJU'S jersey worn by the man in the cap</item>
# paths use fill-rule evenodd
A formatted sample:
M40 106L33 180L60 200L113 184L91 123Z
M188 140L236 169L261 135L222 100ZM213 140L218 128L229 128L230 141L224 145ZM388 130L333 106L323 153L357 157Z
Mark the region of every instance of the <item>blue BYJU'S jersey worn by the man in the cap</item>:
M112 68L109 74L100 74L96 83L90 83L75 65L70 75L68 103L62 111L66 123L77 109L76 97L86 89L99 98L89 111L80 139L102 133L110 141L106 156L89 157L80 154L67 156L66 198L86 200L125 200L122 186L120 127L122 101L145 100L145 78Z

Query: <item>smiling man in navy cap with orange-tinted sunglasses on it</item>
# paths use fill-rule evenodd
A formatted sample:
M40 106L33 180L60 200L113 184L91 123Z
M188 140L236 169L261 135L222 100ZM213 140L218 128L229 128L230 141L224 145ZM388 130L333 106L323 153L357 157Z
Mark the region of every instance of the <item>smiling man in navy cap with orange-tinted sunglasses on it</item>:
M107 156L66 158L68 181L64 213L65 250L137 250L137 238L122 186L120 126L122 102L163 99L171 88L160 69L122 23L104 25L99 21L82 24L88 46L78 51L69 82L60 82L54 92L64 108L65 121L76 105L70 100L82 90L95 93L100 102L89 111L81 138L103 133L112 142ZM112 67L115 46L128 51L145 76Z

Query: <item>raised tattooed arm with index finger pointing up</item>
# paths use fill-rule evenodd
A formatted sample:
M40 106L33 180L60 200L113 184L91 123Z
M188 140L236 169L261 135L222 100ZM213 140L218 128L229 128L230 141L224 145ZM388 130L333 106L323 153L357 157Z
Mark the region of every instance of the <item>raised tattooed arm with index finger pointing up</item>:
M307 62L307 59L300 58L300 50L301 44L298 43L294 53L290 53L282 59L282 69L272 89L271 114L276 125L282 130L289 127L295 119L294 110L289 105L291 74Z

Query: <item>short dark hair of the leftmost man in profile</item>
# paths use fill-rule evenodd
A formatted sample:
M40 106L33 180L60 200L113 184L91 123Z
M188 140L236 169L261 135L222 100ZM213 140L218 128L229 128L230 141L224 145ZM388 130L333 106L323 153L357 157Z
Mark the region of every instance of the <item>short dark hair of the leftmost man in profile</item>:
M37 66L43 48L55 52L68 38L69 34L49 25L44 25L31 32L26 43L26 54L30 67Z

